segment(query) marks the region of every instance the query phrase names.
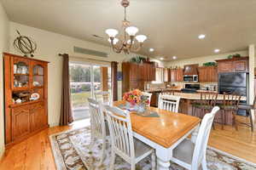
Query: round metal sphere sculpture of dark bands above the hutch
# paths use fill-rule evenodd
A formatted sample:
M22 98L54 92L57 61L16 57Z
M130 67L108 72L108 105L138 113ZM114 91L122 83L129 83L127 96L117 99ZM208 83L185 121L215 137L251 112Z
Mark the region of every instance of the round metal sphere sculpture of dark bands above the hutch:
M26 57L30 54L33 57L35 50L37 49L37 43L32 40L30 37L21 36L20 31L17 31L19 37L16 37L14 41L14 47L21 53L23 53Z

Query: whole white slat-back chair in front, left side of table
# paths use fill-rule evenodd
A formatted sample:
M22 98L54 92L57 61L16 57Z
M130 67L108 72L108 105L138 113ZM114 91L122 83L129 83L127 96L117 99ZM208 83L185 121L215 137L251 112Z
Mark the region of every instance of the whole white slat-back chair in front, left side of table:
M111 137L110 170L113 170L115 155L129 162L131 170L136 169L137 162L151 155L152 169L155 169L154 149L148 146L148 144L133 138L130 112L109 105L104 105L104 107L108 117Z

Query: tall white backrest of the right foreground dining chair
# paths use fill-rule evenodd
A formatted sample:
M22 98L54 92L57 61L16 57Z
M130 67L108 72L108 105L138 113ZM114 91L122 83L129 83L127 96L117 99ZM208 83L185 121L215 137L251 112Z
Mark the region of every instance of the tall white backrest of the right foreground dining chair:
M203 156L207 151L207 143L209 139L209 135L211 132L212 122L214 120L214 116L219 111L219 107L213 107L211 113L207 113L201 122L201 127L199 129L196 141L195 141L195 150L192 159L192 169L198 169L201 165L201 161Z

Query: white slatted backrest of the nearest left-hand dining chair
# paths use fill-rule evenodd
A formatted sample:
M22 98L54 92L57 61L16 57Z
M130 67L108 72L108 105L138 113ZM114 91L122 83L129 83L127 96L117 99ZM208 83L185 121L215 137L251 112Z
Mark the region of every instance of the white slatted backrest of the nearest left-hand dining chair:
M104 105L108 117L108 126L113 150L125 160L135 156L130 112L117 107Z

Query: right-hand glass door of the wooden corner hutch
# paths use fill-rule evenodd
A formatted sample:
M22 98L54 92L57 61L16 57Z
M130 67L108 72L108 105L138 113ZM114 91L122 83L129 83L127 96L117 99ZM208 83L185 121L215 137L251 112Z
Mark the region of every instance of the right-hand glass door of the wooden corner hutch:
M44 86L44 65L35 63L32 65L32 87Z

